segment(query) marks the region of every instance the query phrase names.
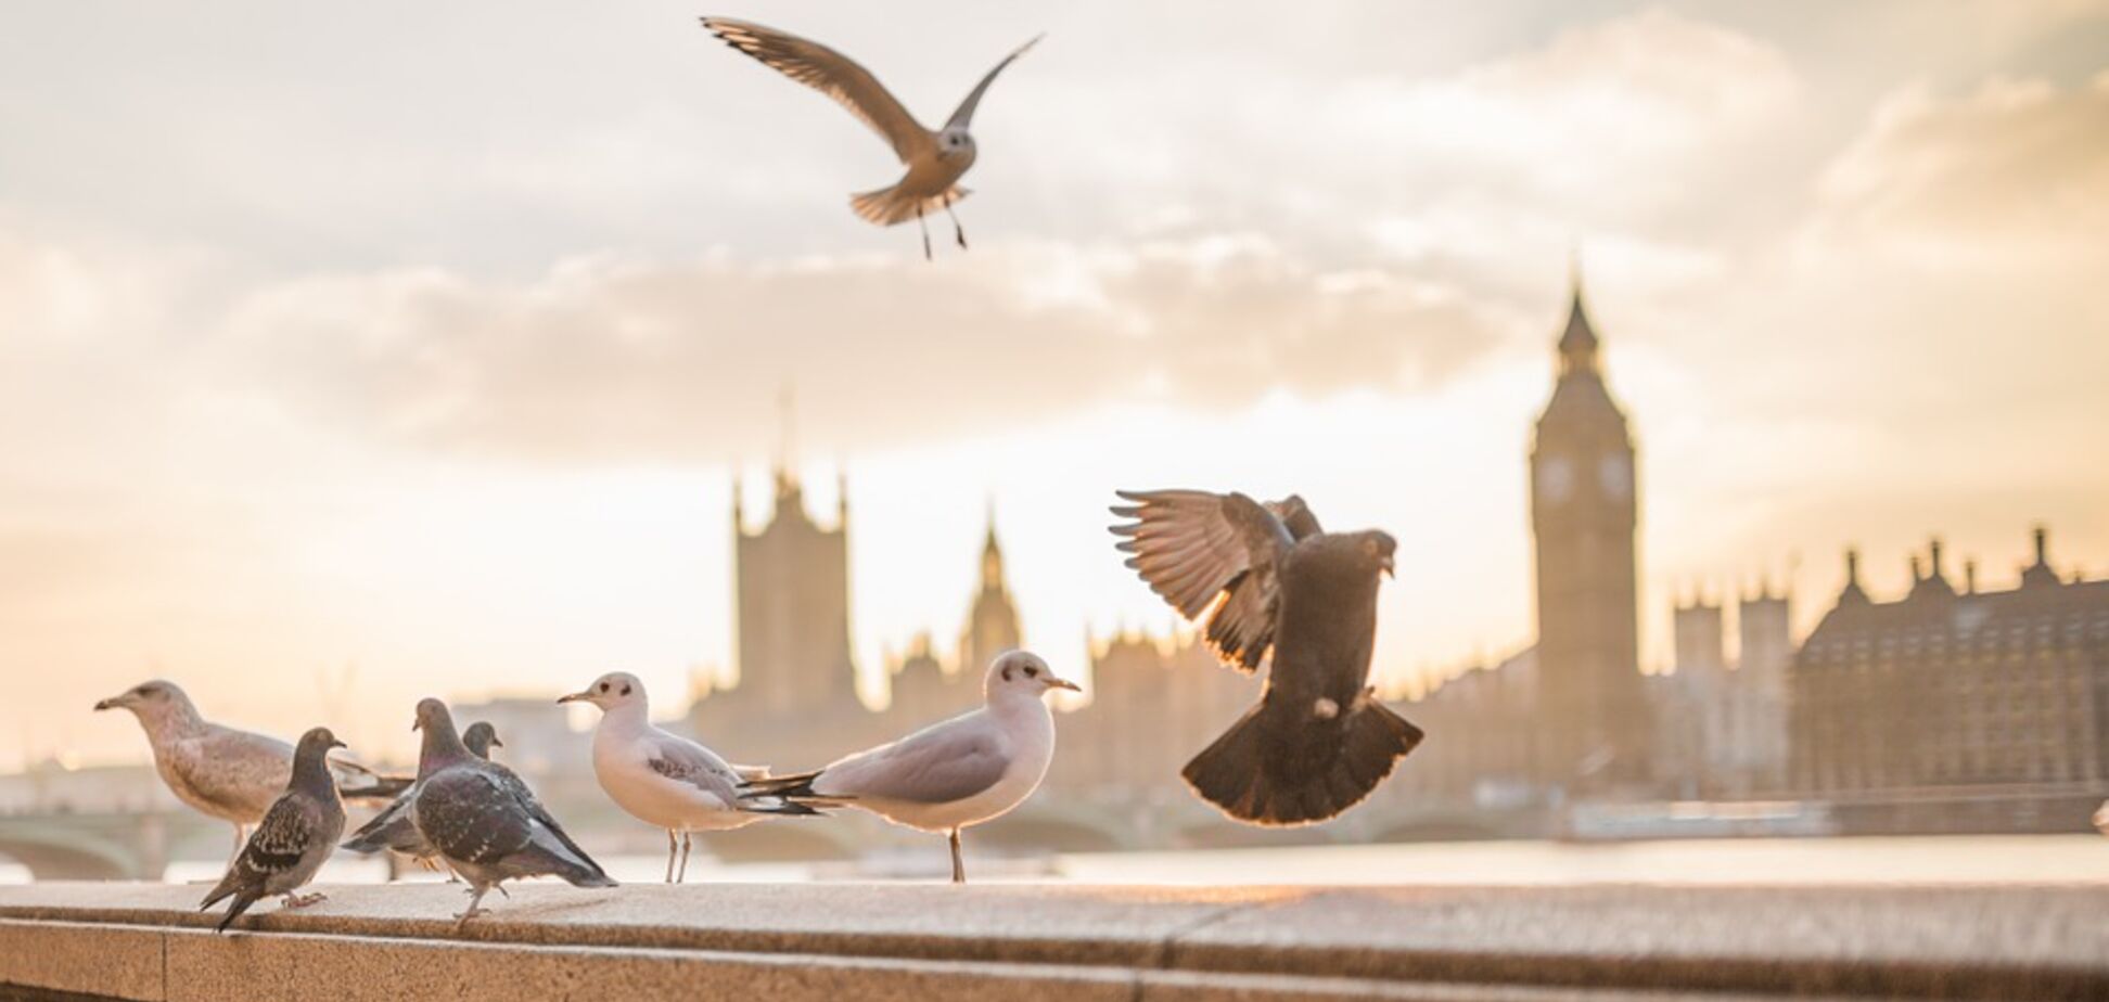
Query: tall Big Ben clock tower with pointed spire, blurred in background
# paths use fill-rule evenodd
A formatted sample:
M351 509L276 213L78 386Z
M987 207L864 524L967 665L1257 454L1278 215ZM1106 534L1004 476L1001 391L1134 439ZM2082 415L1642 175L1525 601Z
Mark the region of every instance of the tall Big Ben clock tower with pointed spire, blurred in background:
M1639 664L1632 437L1597 350L1575 276L1559 382L1531 447L1537 776L1571 793L1645 785L1653 747Z

